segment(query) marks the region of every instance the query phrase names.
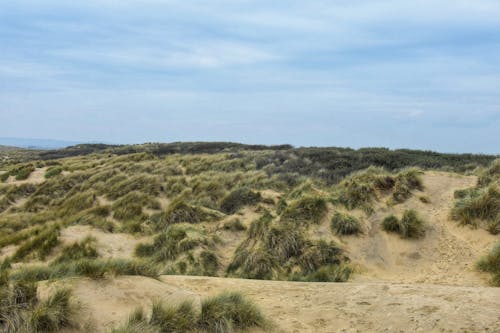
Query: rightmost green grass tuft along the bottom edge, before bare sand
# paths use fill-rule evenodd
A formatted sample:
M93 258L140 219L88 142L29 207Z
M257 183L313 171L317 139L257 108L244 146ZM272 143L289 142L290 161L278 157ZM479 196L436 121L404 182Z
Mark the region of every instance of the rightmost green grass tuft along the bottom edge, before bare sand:
M240 293L222 293L201 303L199 327L203 330L229 333L267 325L259 308Z

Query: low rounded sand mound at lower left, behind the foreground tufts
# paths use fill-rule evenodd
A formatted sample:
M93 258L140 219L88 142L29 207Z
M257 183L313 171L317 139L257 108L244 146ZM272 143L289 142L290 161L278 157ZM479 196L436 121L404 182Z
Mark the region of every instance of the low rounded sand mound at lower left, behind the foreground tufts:
M151 308L155 299L178 304L189 299L199 304L199 298L190 291L181 290L161 281L141 276L121 276L112 279L66 279L40 284L41 298L60 288L69 287L82 306L82 332L109 332L125 322L137 307Z

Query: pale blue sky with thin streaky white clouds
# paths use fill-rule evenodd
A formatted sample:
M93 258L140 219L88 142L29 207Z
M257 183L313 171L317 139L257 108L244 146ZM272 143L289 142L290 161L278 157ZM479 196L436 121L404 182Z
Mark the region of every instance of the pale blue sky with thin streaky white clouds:
M0 137L498 154L500 1L2 1Z

